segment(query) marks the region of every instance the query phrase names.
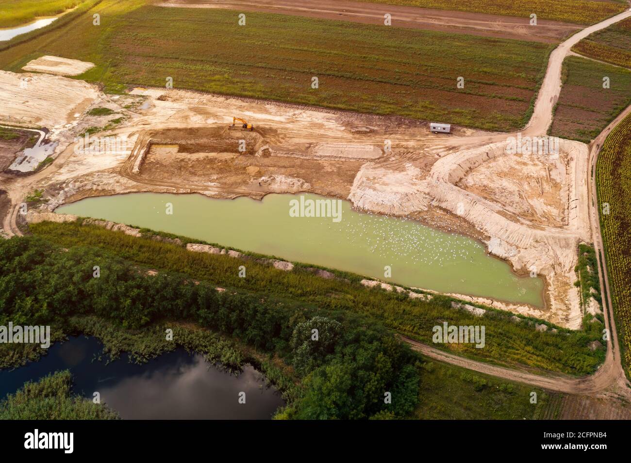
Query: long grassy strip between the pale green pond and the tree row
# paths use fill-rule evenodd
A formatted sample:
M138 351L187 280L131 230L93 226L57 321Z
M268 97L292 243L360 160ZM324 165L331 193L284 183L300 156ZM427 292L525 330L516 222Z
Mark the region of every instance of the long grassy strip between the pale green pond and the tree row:
M247 278L240 278L238 267L244 264L243 261L225 254L186 250L187 243L200 243L200 240L148 229L140 229L142 236L134 237L81 223L82 219L64 224L41 222L30 224L29 229L35 236L64 248L83 245L105 254L114 254L145 269L143 271L158 272L156 276L163 272L175 272L196 281L205 280L228 291L264 294L278 304L307 304L368 316L396 333L428 344L432 344L433 326L444 321L457 326L484 323L487 333L485 349L476 349L473 345L437 345L476 360L506 366L526 365L532 369L572 375L590 374L604 360L604 347L596 351L589 348L593 341L600 339L598 323L574 331L539 319L473 304L487 310L483 317L476 317L464 309L455 309L452 303L457 305L463 301L452 297L432 295L429 301L411 299L406 293L369 289L360 283L360 275L300 263L295 264L293 272L285 272L254 260L248 261ZM215 246L214 243L204 244ZM260 254L245 254L262 257ZM312 268L332 273L335 278L319 277ZM538 331L537 326L541 324L548 329Z

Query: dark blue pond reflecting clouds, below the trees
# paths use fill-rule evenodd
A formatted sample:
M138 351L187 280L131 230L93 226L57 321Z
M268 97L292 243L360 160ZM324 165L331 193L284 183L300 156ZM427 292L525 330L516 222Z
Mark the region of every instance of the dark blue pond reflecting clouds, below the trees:
M125 419L265 420L283 405L280 394L250 365L230 374L182 348L141 365L130 363L127 355L106 365L105 357L96 360L101 352L102 344L86 336L55 343L38 362L0 370L0 398L28 380L68 369L73 392L90 399L99 392L101 403ZM245 404L239 403L239 392L245 392Z

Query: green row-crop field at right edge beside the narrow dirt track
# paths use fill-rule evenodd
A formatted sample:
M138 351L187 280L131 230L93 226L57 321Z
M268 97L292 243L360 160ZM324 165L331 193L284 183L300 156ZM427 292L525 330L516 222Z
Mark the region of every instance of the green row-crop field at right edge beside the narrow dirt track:
M620 331L625 371L631 375L631 116L605 140L598 155L596 181L616 328Z

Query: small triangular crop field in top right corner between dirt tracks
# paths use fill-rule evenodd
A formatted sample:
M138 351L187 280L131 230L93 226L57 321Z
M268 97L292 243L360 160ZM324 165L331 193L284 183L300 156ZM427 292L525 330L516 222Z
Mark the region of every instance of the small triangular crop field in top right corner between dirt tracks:
M599 30L572 47L589 58L631 68L631 18Z

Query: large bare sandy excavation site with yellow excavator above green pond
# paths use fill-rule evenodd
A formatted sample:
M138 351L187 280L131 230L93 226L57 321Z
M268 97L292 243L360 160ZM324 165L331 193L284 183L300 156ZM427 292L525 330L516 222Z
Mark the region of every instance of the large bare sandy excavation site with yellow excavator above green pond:
M54 91L65 91L75 106L75 85L86 86L96 101L107 98L82 81L47 77L62 79ZM427 123L401 118L177 89L137 88L128 98L144 103L131 109L122 107L123 98L107 104L125 117L107 135L125 140L126 151L74 152L71 140L81 121L89 120L83 110L78 123L57 134L65 140L56 152L61 162L38 174L37 184L25 183L22 194L45 188L49 202L42 208L48 210L88 196L133 191L216 198L309 191L348 199L357 209L411 217L480 239L516 272L524 275L534 266L546 280L543 309L479 302L562 326L581 323L572 283L577 244L591 239L586 180L577 180L587 178L584 144L562 140L555 164L507 156L508 134L457 127L450 135L431 134ZM255 130L230 128L233 117L245 118ZM245 140L244 152L239 140Z

